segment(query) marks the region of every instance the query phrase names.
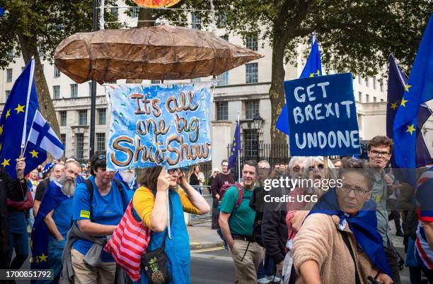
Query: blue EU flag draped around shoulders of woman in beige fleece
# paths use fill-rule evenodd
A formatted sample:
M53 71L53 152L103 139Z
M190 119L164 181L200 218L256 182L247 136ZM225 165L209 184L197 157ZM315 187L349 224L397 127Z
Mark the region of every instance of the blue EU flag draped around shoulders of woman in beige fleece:
M308 215L323 213L340 217L340 230L348 224L359 244L371 262L379 267L383 273L392 278L388 259L383 249L382 237L377 231L376 203L371 199L364 203L364 207L356 215L345 214L340 209L335 189L330 189L321 200L313 206Z

